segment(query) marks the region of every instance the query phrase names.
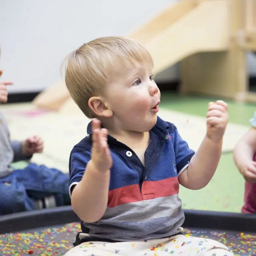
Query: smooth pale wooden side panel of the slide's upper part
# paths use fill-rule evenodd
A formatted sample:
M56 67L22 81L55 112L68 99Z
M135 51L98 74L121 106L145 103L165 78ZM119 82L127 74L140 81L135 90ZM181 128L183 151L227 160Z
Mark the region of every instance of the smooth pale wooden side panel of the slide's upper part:
M228 21L225 0L204 1L144 46L154 59L154 72L197 52L228 49ZM216 19L218 16L218 19Z

